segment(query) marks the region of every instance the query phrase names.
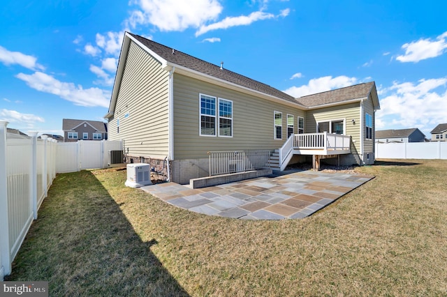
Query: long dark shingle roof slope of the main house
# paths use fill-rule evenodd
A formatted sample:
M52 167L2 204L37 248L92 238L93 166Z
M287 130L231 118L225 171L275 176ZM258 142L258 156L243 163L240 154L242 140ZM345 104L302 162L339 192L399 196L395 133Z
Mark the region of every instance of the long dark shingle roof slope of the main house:
M269 86L268 84L263 84L262 82L258 82L249 77L245 77L244 75L233 73L233 71L230 71L225 68L221 69L220 66L216 66L212 63L200 60L194 56L190 56L189 54L185 54L184 52L179 52L178 50L175 49L173 54L172 47L166 47L165 45L161 45L160 43L156 43L152 40L146 39L142 36L135 35L133 33L129 34L133 36L133 38L138 40L140 43L145 45L147 48L149 48L149 50L152 50L153 52L161 56L161 58L165 59L170 63L175 63L179 66L183 66L191 70L196 70L200 73L204 73L206 75L210 75L218 79L223 79L226 82L231 82L233 84L244 86L254 91L259 91L270 96L298 103L292 96L284 92L281 92L278 89L274 89L272 86Z

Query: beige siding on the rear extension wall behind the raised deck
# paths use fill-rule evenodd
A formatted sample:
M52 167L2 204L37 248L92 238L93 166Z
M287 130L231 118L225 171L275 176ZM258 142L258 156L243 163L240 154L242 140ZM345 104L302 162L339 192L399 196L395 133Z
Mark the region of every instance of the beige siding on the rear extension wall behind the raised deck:
M316 133L316 123L329 120L345 120L346 135L351 135L356 151L360 151L360 103L350 103L313 109L306 112L305 132ZM354 124L352 120L356 121Z

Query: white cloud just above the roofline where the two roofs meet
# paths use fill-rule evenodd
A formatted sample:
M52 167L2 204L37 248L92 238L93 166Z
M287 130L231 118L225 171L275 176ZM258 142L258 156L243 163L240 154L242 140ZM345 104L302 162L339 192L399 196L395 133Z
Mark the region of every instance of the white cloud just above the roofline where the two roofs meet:
M288 93L289 95L298 98L314 93L343 88L344 86L352 86L357 83L358 79L356 77L347 77L344 75L337 77L325 76L311 79L309 80L309 84L303 86L292 86L291 88L286 89L284 93Z

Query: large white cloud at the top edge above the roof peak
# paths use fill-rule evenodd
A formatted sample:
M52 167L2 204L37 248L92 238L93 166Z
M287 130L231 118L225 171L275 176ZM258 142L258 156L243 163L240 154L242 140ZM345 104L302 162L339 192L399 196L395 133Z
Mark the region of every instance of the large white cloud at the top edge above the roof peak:
M222 11L217 0L137 0L141 10L135 10L127 24L153 24L160 31L183 31L197 28L207 21L215 20Z

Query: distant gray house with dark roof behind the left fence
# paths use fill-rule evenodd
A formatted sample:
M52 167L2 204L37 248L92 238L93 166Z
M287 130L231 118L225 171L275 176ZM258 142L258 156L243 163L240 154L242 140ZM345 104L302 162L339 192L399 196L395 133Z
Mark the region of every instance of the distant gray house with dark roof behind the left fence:
M107 139L107 123L101 121L63 119L62 130L64 142Z

